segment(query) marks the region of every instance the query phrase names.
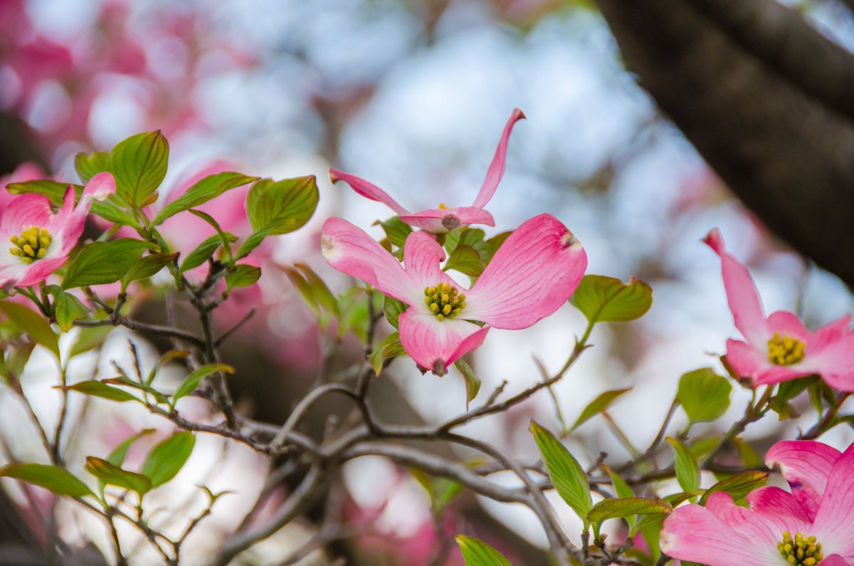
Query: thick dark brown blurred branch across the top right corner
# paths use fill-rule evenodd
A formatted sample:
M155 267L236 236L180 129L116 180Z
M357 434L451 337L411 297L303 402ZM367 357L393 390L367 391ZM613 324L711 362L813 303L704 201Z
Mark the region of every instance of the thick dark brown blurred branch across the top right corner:
M773 0L597 3L640 85L733 192L854 286L854 58Z

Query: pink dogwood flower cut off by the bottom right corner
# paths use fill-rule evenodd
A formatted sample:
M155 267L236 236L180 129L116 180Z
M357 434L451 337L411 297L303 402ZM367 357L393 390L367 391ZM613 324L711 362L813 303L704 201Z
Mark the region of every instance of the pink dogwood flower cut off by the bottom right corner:
M838 450L813 440L783 440L765 455L792 492L765 486L748 508L724 492L705 507L682 505L664 521L661 550L709 566L854 564L854 445Z

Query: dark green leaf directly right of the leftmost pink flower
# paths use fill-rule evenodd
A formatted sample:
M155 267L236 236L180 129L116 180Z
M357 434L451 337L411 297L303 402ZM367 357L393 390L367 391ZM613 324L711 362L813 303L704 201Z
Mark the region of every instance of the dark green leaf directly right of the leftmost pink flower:
M92 242L73 259L62 281L63 289L114 283L137 262L152 245L133 238Z

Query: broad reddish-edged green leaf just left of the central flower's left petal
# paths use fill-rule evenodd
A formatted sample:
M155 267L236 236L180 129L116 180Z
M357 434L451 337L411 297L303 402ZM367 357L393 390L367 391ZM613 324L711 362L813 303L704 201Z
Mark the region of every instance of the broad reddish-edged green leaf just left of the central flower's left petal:
M270 234L289 233L312 217L318 199L314 175L279 181L262 179L249 189L246 214L253 230L266 227Z

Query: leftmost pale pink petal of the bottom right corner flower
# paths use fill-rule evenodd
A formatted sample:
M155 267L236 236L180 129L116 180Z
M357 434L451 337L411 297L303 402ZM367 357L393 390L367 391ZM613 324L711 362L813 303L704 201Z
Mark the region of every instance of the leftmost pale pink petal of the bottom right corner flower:
M664 520L659 542L661 550L670 557L709 566L771 566L778 564L780 558L775 547L768 551L761 548L710 510L693 504L682 505L670 513Z

